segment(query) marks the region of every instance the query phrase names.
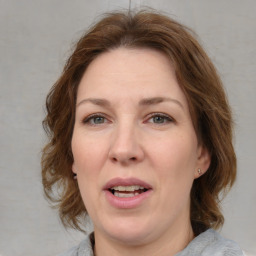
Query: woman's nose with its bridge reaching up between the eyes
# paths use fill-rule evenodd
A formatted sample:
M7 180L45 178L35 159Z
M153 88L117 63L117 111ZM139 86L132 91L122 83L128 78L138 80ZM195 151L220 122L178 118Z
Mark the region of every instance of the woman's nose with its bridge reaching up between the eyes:
M143 150L139 141L138 129L132 117L128 116L117 122L110 148L112 160L127 163L142 159Z

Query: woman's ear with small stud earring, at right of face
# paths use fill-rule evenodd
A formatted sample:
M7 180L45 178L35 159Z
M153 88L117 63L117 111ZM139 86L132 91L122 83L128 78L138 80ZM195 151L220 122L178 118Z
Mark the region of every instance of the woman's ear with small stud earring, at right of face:
M205 146L199 145L197 150L197 168L194 174L195 179L206 173L210 164L211 155L209 153L209 150Z

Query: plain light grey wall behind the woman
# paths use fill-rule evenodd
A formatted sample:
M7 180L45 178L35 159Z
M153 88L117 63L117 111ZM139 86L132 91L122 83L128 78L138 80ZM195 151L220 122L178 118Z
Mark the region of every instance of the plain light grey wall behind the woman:
M236 122L237 183L222 234L256 253L256 1L131 1L194 29L224 81ZM0 255L55 255L82 235L65 231L43 198L40 150L47 92L83 30L129 0L0 0Z

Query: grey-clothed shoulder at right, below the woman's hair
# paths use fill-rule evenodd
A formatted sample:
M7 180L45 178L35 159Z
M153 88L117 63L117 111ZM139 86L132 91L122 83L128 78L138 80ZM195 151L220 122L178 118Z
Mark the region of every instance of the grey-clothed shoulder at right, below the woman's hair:
M177 256L244 256L239 245L208 229L195 239Z

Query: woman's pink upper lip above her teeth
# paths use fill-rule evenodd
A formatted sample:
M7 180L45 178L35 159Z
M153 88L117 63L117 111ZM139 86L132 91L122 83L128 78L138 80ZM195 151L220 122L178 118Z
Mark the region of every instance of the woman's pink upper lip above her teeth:
M130 178L114 178L109 180L106 185L103 187L103 190L111 189L115 186L132 186L132 185L139 185L146 189L152 189L152 186L147 182L140 180L138 178L130 177Z

